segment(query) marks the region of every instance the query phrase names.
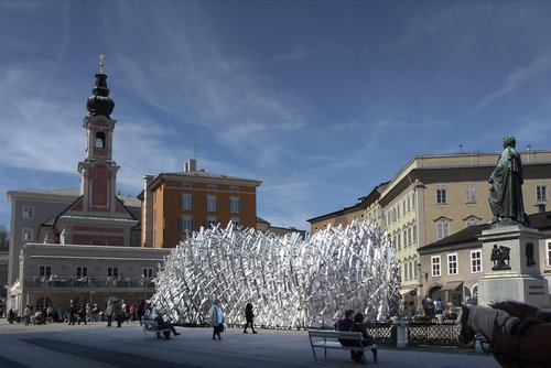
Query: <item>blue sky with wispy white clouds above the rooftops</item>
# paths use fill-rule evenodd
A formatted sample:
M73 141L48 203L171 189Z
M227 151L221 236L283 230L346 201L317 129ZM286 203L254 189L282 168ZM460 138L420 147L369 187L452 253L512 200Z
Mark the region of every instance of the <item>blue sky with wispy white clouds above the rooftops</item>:
M551 2L0 1L7 191L78 187L104 53L118 190L197 166L309 229L413 155L551 149Z

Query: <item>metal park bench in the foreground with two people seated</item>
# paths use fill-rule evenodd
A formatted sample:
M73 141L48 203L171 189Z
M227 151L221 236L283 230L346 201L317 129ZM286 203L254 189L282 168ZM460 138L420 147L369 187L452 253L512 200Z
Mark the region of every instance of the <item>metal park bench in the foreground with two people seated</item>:
M364 346L361 344L363 336L360 332L309 329L309 337L312 353L314 353L314 360L317 360L315 348L323 348L325 350L325 359L327 359L327 349L361 351L364 361L366 360L366 350L370 349L374 354L374 361L377 362L377 345ZM349 342L350 346L343 346L341 340Z

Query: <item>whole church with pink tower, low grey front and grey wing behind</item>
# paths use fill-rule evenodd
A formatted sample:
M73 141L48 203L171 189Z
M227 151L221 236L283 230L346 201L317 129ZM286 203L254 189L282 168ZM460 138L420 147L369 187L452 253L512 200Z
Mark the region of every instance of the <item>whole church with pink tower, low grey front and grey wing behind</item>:
M102 63L100 64L102 68ZM105 309L108 296L127 303L154 293L153 277L169 250L140 247L141 202L117 195L107 75L96 74L84 118L86 154L79 188L8 192L12 205L7 309L65 311L69 300Z

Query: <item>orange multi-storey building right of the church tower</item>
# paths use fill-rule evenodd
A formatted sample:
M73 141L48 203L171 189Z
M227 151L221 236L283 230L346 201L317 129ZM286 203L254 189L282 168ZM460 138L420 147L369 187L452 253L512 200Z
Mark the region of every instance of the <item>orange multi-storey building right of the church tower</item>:
M183 172L144 175L142 247L172 248L201 227L229 221L257 226L257 186L262 182L196 170L190 160Z

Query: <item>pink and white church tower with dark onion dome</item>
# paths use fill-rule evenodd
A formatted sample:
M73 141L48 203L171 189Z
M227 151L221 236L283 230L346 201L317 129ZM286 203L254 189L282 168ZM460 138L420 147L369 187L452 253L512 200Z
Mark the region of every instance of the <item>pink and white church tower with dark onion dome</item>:
M56 217L54 232L60 243L129 247L138 220L117 197L117 171L112 160L112 133L117 120L110 115L115 102L109 98L104 55L91 88L84 118L86 156L78 163L80 196Z

